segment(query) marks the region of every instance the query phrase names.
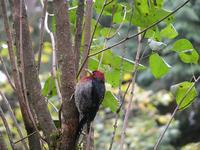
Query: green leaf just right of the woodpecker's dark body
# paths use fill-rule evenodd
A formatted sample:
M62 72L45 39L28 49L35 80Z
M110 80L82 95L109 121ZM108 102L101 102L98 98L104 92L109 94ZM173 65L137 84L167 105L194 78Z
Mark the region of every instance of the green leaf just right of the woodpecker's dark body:
M110 108L112 112L116 112L119 105L118 99L112 94L111 91L106 91L102 105Z

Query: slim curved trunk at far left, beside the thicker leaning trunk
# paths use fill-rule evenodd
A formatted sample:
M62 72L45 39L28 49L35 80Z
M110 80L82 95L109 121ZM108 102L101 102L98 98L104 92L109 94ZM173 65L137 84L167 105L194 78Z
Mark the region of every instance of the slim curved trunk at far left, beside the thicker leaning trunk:
M30 119L28 110L27 110L27 105L25 103L23 94L22 94L22 87L20 84L20 76L19 76L19 70L16 64L16 59L15 59L15 54L14 54L14 50L13 50L13 39L12 39L12 35L10 32L10 28L9 28L9 21L8 21L8 17L6 15L7 13L7 7L6 7L6 3L5 0L1 1L1 7L2 7L2 14L3 14L3 20L4 20L4 28L5 28L5 32L8 38L8 52L9 52L9 58L10 58L10 62L11 62L11 67L12 67L12 74L13 74L13 78L14 78L14 84L15 84L15 89L16 89L16 94L17 94L17 98L19 100L19 104L20 104L20 110L22 113L22 118L25 124L25 128L27 131L27 134L31 134L32 132L35 131L35 127L33 126L33 123ZM29 140L29 146L30 149L34 149L37 148L38 150L41 149L40 147L40 141L38 138L38 135L35 134L33 136L30 136L28 138ZM33 144L32 144L33 143Z

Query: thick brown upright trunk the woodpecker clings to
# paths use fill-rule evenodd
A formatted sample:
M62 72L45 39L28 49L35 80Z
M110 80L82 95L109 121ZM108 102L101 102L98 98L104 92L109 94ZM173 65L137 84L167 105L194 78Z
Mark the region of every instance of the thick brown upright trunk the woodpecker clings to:
M78 111L73 94L76 82L75 53L72 48L68 1L54 0L56 15L57 60L61 69L62 94L62 150L75 150L75 133L78 125Z

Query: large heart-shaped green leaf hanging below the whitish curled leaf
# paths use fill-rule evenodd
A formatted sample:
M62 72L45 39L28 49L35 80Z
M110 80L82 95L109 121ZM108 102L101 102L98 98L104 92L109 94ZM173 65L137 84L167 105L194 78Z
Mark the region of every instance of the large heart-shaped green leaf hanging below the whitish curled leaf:
M149 65L152 74L157 79L167 74L171 68L157 53L151 54L149 58Z

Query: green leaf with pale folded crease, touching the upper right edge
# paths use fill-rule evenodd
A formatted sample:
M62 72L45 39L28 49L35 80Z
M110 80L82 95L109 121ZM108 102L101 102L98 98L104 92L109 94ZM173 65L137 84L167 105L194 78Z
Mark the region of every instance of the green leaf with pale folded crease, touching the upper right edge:
M177 40L173 45L173 51L179 54L180 59L184 63L198 63L199 54L193 48L192 43L187 39Z

